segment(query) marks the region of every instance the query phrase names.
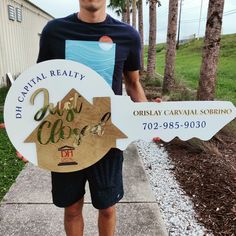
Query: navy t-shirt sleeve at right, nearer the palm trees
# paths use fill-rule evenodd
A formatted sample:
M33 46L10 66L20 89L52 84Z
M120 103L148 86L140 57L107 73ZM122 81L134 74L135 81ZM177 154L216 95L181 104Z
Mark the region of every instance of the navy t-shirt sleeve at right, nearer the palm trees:
M133 35L129 54L124 64L124 71L140 70L141 39L137 31Z

